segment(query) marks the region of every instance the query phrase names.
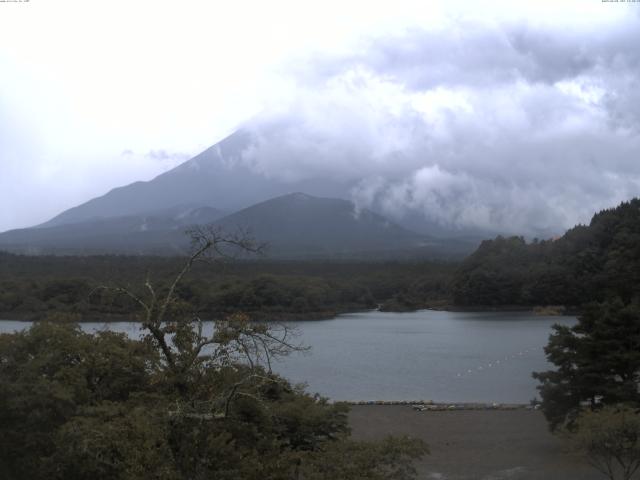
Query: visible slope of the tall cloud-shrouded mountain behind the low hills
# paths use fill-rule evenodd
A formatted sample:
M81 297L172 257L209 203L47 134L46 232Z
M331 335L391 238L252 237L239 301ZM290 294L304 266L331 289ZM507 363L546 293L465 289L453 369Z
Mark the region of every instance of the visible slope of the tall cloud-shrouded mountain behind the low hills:
M55 227L90 220L146 215L146 212L180 208L182 205L210 206L236 212L270 198L305 192L316 197L351 199L361 179L331 176L297 178L267 171L269 161L260 157L260 138L240 129L202 153L149 181L120 186L104 195L70 208L40 227ZM331 161L332 152L326 152ZM296 149L282 145L283 163L304 162ZM380 209L381 205L370 206ZM419 209L409 209L395 223L420 234L439 238L466 238L457 243L479 242L494 232L440 224Z

